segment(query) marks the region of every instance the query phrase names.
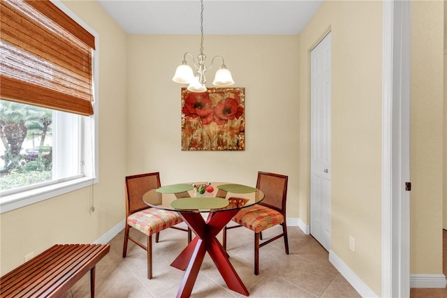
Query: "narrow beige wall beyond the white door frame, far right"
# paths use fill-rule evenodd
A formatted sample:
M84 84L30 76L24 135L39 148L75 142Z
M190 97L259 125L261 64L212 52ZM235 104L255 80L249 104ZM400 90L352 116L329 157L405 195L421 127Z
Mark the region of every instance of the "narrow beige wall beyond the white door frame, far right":
M442 274L444 2L411 2L412 274Z

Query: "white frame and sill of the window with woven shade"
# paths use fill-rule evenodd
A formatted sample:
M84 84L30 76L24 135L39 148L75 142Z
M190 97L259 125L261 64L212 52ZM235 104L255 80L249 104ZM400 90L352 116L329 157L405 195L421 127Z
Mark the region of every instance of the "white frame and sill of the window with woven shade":
M93 77L93 96L94 101L91 103L93 106L94 114L80 117L87 117L82 119L83 133L82 133L82 144L84 151L84 166L83 166L83 176L76 179L71 179L68 181L60 181L56 184L49 186L42 186L40 188L34 188L27 191L22 191L19 193L13 193L11 195L0 196L0 214L3 214L14 209L26 207L30 204L35 204L43 200L48 200L54 198L58 195L64 195L72 191L77 191L85 187L94 187L94 184L98 184L98 75L99 75L99 35L94 29L89 27L87 23L75 15L70 9L68 9L61 1L50 0L55 6L61 9L66 15L71 17L75 22L80 24L84 29L89 31L91 35L95 38L95 49L92 50L92 77ZM87 139L88 138L88 139ZM87 144L89 148L87 148ZM86 157L90 154L91 157Z

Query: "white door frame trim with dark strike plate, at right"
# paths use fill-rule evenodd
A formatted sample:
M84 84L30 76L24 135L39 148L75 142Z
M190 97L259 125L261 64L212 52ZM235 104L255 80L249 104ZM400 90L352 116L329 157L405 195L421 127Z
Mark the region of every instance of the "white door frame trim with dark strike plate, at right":
M411 1L383 1L382 293L410 295Z

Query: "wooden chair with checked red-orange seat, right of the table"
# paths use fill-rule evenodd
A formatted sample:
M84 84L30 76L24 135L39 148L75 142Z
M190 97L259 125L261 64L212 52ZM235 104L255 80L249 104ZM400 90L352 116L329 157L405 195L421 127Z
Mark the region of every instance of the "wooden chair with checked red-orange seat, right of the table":
M259 274L259 248L284 237L284 248L288 255L288 238L286 225L286 199L288 177L282 174L258 172L256 188L263 191L265 197L258 204L241 209L233 221L239 225L223 228L223 248L226 249L226 231L244 226L254 231L254 274ZM260 243L262 231L275 225L282 226L282 233Z

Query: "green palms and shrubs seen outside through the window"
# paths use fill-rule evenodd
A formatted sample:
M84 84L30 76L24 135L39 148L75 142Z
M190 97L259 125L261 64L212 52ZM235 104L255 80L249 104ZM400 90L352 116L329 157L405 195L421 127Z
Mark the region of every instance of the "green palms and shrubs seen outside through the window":
M52 179L52 146L45 146L51 124L49 109L0 100L0 190Z

